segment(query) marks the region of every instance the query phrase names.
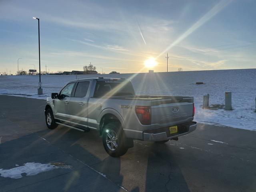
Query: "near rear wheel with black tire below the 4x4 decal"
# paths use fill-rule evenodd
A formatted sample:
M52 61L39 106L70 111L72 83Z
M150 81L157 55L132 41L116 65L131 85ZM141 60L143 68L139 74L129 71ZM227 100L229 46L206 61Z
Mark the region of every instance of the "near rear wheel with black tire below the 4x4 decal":
M120 157L127 152L128 148L124 145L124 140L125 138L122 131L122 126L119 122L109 122L104 126L102 132L102 143L106 152L110 156Z

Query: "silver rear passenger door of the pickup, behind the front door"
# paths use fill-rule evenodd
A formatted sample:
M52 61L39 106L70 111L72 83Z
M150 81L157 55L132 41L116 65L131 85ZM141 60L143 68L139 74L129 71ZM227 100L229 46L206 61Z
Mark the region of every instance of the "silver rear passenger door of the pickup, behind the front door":
M88 95L90 81L77 82L74 96L70 98L70 122L88 126Z

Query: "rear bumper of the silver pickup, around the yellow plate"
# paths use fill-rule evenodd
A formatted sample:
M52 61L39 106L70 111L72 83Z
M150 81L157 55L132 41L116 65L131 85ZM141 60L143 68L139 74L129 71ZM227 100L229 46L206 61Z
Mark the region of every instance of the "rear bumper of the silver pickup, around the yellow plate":
M181 132L179 132L179 127L180 129L182 128ZM144 132L143 140L144 141L163 141L163 140L176 138L184 134L188 134L196 130L196 122L192 121L186 124L178 125L178 133L176 134L169 134L168 130L169 128L161 128L161 129L154 130L154 132Z

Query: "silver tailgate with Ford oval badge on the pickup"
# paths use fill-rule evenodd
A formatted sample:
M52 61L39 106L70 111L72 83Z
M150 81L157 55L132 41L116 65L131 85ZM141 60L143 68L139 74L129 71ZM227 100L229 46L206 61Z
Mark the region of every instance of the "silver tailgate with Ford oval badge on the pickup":
M193 117L193 102L174 102L151 106L151 124L176 124Z

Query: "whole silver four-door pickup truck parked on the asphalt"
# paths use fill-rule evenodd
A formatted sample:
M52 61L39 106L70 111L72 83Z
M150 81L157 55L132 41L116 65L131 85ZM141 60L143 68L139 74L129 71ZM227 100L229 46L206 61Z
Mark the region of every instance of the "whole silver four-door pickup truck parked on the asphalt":
M135 95L122 78L68 82L46 100L45 119L82 132L98 130L106 152L122 156L133 140L164 143L196 129L193 97Z

